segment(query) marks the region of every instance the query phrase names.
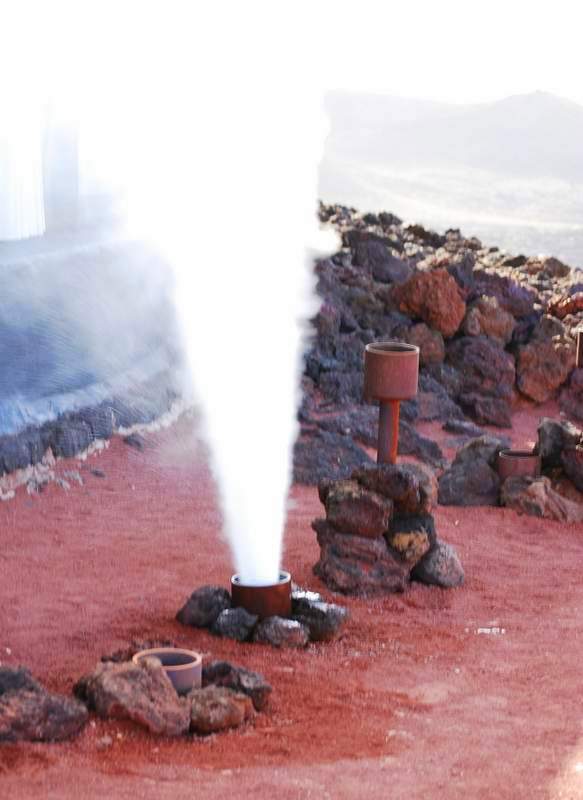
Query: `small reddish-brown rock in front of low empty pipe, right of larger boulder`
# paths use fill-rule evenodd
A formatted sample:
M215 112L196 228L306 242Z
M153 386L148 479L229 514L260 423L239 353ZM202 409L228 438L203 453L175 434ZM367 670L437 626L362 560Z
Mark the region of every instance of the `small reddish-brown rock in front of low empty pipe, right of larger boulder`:
M225 686L207 686L188 695L190 729L208 734L238 728L253 717L253 704L247 695Z

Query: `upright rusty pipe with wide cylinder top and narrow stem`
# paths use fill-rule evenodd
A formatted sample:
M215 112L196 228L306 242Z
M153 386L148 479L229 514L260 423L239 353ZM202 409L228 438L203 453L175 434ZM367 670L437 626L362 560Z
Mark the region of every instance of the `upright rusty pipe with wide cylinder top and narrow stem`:
M378 464L396 464L402 400L417 394L419 348L405 342L371 342L364 350L364 399L379 401Z

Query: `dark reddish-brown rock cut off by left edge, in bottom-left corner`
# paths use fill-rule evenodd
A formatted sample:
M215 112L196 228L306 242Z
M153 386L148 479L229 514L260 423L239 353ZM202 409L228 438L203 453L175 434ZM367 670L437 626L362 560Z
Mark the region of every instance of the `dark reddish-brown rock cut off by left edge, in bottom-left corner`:
M0 742L60 742L87 719L85 706L71 697L30 688L0 694Z

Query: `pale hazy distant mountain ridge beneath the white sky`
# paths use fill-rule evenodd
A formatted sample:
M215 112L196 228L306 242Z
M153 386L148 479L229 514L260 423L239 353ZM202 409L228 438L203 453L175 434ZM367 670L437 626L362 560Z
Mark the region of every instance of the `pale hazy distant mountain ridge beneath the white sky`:
M334 92L326 109L335 157L583 181L583 106L548 92L471 105Z

